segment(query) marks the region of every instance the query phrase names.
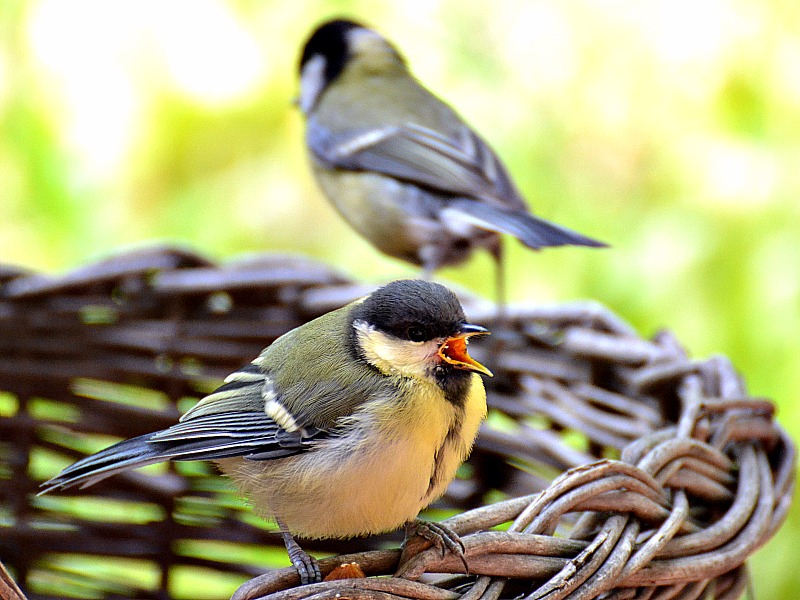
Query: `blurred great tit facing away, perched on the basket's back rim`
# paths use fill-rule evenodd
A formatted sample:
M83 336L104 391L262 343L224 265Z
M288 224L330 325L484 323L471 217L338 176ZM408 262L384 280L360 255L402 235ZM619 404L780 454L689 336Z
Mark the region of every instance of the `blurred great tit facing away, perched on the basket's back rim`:
M532 215L486 142L363 25L334 20L314 31L300 58L298 104L324 194L378 250L428 277L486 248L502 305L500 234L534 250L605 246Z

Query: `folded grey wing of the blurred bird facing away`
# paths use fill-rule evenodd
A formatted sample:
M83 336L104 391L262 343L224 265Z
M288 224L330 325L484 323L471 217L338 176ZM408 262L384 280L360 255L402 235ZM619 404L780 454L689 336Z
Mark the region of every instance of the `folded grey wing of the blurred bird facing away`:
M415 123L333 132L312 118L306 135L314 156L329 167L374 171L448 195L525 208L500 160L467 126L452 136Z

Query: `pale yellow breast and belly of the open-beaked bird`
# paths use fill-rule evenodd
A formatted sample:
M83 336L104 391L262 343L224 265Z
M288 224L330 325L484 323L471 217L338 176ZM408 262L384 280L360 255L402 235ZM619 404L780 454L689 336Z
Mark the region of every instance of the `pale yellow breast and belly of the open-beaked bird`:
M218 461L254 508L305 537L389 531L441 496L467 458L486 415L486 393L471 375L462 406L433 383L408 383L398 397L372 402L341 437L302 455ZM397 403L401 405L398 406Z

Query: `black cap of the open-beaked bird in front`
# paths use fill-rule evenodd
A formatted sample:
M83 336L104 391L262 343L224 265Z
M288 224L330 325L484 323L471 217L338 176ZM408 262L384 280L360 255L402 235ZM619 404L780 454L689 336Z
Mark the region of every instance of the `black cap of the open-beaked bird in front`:
M370 294L356 305L352 318L413 342L451 336L466 321L453 292L438 283L410 279L393 281Z

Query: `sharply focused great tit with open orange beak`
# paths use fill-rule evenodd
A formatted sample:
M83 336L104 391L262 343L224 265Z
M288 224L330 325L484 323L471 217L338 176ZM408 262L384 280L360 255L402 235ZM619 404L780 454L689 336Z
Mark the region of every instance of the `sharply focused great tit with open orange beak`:
M76 462L42 493L212 460L276 520L303 583L320 580L319 566L292 533L346 538L406 524L457 551L455 534L416 517L444 493L486 416L478 374L491 373L467 342L487 333L444 286L392 282L281 336L176 425Z

